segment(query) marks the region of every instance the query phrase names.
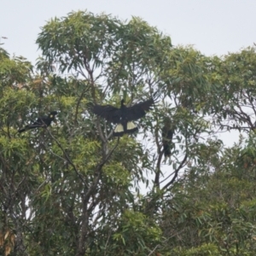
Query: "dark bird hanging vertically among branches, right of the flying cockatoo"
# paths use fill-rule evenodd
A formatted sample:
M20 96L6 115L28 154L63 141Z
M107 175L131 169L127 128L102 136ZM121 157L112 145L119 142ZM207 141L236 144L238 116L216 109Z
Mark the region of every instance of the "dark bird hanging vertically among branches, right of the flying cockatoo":
M171 124L171 119L166 118L165 125L162 129L162 142L163 142L165 157L171 156L173 133L174 133L174 129Z

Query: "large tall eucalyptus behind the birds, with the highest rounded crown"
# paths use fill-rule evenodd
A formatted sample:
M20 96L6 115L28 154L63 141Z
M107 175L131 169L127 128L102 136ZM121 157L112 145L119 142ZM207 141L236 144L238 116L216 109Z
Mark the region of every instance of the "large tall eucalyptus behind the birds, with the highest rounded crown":
M17 237L12 243L8 235L8 246L25 255L155 253L164 241L166 196L211 131L205 116L209 102L218 103L218 58L173 48L170 37L139 18L87 11L49 20L37 44L42 57L34 73L26 60L3 55L2 233L15 230ZM113 138L114 126L88 108L119 107L122 98L130 106L155 93L137 136ZM51 111L58 111L55 124L16 134ZM174 132L169 159L166 119Z

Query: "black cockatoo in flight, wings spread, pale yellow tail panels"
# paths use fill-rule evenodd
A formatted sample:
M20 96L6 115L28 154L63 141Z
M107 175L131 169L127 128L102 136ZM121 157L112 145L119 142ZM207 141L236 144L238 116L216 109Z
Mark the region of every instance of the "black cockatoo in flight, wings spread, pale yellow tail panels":
M111 105L93 105L90 107L92 113L99 115L103 119L113 124L118 124L114 131L114 137L122 137L125 133L137 131L137 126L132 122L142 118L154 104L154 99L150 98L145 102L139 102L131 107L126 107L125 100L121 101L121 108L115 108Z

